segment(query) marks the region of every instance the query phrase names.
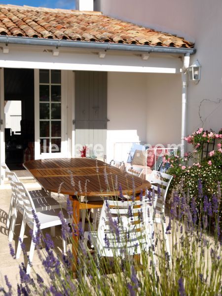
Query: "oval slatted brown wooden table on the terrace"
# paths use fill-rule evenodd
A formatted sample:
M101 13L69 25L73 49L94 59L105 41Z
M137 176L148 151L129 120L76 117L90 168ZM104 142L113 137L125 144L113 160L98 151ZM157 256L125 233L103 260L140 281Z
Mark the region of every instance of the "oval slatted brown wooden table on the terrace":
M121 185L122 194L140 193L150 188L150 183L136 176L122 172L109 164L90 158L53 158L26 161L23 166L37 182L51 192L69 194L73 202L75 235L73 254L77 259L79 198L78 196L116 196L116 183ZM77 235L76 235L77 233ZM75 266L74 266L75 271Z

